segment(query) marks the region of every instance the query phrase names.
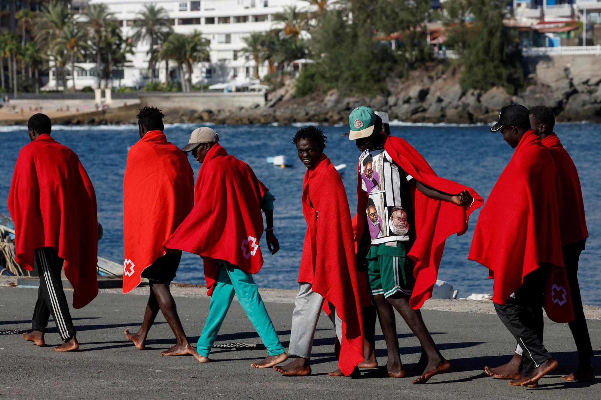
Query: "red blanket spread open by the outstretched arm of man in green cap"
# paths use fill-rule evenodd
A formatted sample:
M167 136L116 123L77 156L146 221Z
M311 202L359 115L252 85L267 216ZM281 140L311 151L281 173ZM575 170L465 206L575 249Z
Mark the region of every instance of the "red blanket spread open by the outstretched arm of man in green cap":
M457 195L463 190L474 197L469 207L458 207L447 201L430 198L411 187L413 210L415 210L415 243L408 254L415 262L413 275L415 286L409 304L419 309L432 297L432 289L438 276L445 240L450 235L464 234L468 229L469 215L483 204L483 199L471 187L438 177L436 172L411 145L401 138L383 135L384 149L398 166L416 181L440 192ZM355 240L361 240L366 223L367 193L361 190L361 175L357 177L357 216Z

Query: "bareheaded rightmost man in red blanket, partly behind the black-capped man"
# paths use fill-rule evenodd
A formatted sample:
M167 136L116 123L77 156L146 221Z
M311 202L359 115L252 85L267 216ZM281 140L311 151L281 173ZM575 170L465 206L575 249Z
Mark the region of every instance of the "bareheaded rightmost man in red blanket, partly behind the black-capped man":
M587 222L584 215L584 201L576 165L572 157L553 132L555 116L546 106L535 106L530 110L530 127L541 138L542 144L549 149L555 163L555 185L557 189L557 207L561 230L561 252L566 268L567 282L572 297L574 320L569 323L572 336L578 349L580 360L578 369L572 374L562 377L563 380L591 381L594 379L593 347L588 335L587 320L582 310L582 298L578 283L578 261L580 253L585 249L588 237ZM543 321L539 320L538 329L543 332ZM498 379L515 379L522 375L523 349L517 344L510 362L486 368L486 374Z

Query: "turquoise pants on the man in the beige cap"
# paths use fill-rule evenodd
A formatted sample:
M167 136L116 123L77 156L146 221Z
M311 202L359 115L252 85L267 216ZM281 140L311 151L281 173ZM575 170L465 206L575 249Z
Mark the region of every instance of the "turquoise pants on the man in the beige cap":
M221 324L234 299L234 293L267 348L267 354L277 356L284 353L284 347L279 342L278 333L275 332L271 318L267 314L252 274L239 270L227 261L219 260L219 278L211 296L209 315L204 323L203 333L196 345L198 354L209 357Z

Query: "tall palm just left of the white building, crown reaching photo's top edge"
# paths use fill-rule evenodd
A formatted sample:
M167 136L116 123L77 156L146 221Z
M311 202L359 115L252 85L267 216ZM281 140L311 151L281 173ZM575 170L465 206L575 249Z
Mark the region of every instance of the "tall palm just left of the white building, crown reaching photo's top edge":
M40 13L36 13L34 17L33 31L35 38L40 45L41 50L49 53L52 56L55 73L56 87L58 88L59 66L53 55L58 55L58 52L53 51L53 43L63 32L65 26L73 22L71 10L63 2L50 2Z

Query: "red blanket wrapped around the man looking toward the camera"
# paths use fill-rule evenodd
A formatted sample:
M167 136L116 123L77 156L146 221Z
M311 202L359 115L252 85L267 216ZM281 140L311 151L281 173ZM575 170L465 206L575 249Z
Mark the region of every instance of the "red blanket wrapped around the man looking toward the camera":
M349 375L363 361L361 310L371 301L358 282L346 190L325 154L305 172L302 210L307 233L298 281L311 283L343 321L338 368Z

